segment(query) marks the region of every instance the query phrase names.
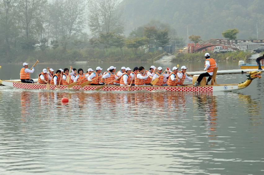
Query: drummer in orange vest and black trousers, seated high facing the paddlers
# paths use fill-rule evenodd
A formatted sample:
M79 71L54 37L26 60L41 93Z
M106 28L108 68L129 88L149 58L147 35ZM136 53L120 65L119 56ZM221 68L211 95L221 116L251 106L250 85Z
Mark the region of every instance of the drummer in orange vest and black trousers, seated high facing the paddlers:
M208 84L208 82L212 79L210 76L213 75L213 70L214 68L217 67L217 63L215 62L215 60L213 58L210 58L210 54L209 53L205 53L204 54L204 58L205 58L205 62L204 62L204 71L206 71L206 73L202 73L199 75L197 81L195 81L193 86L200 86L200 82L202 81L202 79L204 77L209 77L206 81L206 85Z

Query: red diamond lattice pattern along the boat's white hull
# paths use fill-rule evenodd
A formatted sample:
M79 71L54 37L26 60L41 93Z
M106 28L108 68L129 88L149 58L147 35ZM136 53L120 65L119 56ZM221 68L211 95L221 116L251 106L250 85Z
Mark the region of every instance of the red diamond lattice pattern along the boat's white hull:
M45 84L30 84L30 83L15 83L13 82L14 88L21 88L21 89L46 89L47 85ZM83 88L84 91L92 91L95 90L100 86L85 86ZM55 89L55 85L50 85L50 89ZM73 89L79 90L81 86L74 86ZM61 85L60 89L67 89L67 85ZM145 90L145 91L154 91L154 90L165 90L165 91L179 91L179 92L213 92L212 86L163 86L163 87L156 87L156 86L132 86L131 91L138 91L138 90ZM101 91L128 91L128 87L126 86L105 86L101 89Z

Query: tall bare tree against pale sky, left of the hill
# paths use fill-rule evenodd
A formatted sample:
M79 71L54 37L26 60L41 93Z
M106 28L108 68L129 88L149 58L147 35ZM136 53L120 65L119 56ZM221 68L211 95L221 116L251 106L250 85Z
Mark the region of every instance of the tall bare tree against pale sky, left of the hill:
M93 35L122 33L122 7L119 0L88 0L88 26Z

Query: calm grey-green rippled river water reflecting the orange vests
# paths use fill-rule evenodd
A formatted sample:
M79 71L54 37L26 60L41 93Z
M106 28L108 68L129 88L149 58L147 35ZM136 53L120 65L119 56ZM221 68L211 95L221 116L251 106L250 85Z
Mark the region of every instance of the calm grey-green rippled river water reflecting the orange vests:
M218 65L238 69L237 63ZM0 79L19 79L21 66L1 66ZM217 75L217 83L246 78ZM263 83L264 77L218 93L0 86L0 174L264 174Z

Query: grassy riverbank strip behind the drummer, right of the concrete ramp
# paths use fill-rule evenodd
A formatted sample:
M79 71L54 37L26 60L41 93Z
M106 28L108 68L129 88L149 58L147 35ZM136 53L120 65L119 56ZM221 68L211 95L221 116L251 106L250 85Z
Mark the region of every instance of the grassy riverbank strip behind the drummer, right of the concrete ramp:
M236 51L228 53L210 53L211 58L216 61L239 61L244 60L245 56L250 52ZM204 61L204 52L199 53L178 53L172 62L202 62Z

